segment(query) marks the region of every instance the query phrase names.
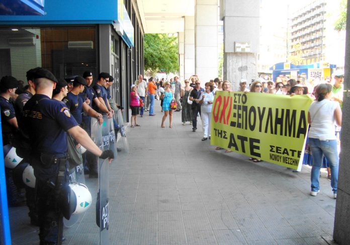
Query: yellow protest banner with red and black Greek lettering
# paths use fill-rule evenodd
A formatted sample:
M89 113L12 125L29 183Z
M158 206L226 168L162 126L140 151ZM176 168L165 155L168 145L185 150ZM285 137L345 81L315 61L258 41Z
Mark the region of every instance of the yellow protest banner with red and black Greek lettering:
M300 169L311 102L308 95L217 91L211 145Z

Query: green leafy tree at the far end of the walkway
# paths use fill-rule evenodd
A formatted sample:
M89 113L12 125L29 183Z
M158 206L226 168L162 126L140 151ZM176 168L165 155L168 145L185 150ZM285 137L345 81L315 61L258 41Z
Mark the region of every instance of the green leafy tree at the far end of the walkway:
M171 34L145 34L144 62L148 73L179 72L178 37Z

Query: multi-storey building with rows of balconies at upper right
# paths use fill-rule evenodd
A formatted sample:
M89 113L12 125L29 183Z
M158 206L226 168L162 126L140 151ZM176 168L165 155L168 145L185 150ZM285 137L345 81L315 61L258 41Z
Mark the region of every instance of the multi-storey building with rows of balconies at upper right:
M300 65L326 61L344 67L345 32L334 30L340 1L316 0L292 14L290 54Z

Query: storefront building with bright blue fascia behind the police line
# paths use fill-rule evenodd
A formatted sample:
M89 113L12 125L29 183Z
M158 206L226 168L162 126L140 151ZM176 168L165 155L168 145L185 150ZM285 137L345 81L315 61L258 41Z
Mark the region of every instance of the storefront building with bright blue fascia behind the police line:
M144 32L132 1L27 2L0 12L0 77L12 75L26 84L26 71L37 66L57 78L88 70L96 81L100 72L108 72L115 78L113 98L127 108L130 85L144 70ZM35 10L29 2L42 6ZM127 119L128 110L124 113Z

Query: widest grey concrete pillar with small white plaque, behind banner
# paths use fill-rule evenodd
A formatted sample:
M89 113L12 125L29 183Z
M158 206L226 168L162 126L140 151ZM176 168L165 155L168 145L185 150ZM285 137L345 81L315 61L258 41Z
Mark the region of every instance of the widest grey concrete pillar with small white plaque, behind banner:
M220 0L220 18L224 21L223 79L237 90L239 80L257 78L259 47L259 0Z

